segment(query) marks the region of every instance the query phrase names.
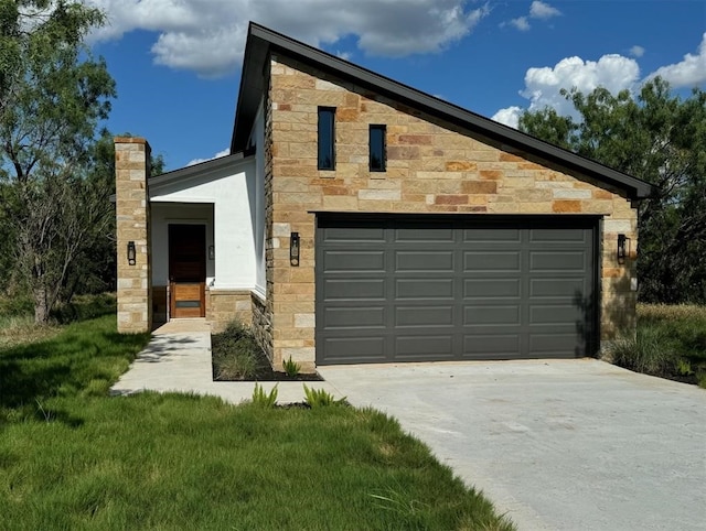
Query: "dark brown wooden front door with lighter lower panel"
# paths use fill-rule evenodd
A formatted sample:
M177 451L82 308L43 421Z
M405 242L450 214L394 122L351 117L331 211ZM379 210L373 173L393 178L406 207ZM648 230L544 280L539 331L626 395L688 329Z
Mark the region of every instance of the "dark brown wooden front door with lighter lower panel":
M170 315L205 317L206 227L169 226Z

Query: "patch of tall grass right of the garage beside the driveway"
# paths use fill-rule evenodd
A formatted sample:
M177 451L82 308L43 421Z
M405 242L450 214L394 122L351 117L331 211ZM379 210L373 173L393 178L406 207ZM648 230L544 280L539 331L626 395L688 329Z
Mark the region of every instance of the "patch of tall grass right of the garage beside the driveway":
M638 304L635 337L618 340L608 359L706 388L706 306Z

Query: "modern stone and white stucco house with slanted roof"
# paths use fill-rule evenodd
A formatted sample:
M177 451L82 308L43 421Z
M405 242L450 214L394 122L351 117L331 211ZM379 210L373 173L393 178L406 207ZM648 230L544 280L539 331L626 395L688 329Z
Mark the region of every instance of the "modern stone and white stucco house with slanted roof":
M250 24L231 154L116 139L118 326L252 324L272 364L582 357L634 332L652 187Z

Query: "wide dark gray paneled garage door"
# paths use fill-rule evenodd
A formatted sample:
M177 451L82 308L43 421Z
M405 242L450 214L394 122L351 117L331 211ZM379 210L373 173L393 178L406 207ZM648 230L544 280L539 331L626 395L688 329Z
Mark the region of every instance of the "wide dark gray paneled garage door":
M592 354L597 226L320 215L317 362Z

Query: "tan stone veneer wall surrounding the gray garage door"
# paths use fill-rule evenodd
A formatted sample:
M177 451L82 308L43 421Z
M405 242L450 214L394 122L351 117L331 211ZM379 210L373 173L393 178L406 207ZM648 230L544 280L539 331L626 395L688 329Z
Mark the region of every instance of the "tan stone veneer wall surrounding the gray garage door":
M310 212L603 216L601 340L634 329L634 260L616 259L618 234L637 248L637 212L618 189L569 175L480 134L271 56L266 112L267 311L272 362L313 364L314 230ZM317 170L318 106L335 107L335 171ZM368 170L368 124L386 124L387 171ZM301 237L289 264L289 234Z

